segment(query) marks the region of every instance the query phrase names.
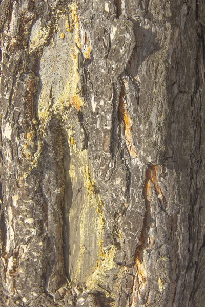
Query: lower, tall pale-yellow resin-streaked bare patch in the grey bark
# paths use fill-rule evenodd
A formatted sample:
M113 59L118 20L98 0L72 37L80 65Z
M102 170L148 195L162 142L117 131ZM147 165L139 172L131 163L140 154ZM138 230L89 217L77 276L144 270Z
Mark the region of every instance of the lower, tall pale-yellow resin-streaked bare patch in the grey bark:
M69 130L71 130L70 133L72 133L72 127L70 127ZM95 248L98 257L100 257L100 250L103 249L103 232L105 225L105 217L103 213L103 202L100 198L96 183L93 179L93 169L92 166L88 166L87 150L82 150L78 152L75 151L74 153L75 149L71 144L71 140L69 141L69 145L71 149L69 176L72 180L73 186L76 186L76 178L78 178L78 185L80 183L81 186L81 189L78 191L78 193L81 193L81 195L79 196L79 194L77 194L78 196L76 197L76 200L74 201L73 207L71 207L70 211L70 221L72 223L72 214L75 215L76 206L80 206L78 209L78 223L80 225L80 229L77 235L77 240L79 242L78 246L80 246L80 249L78 249L78 247L75 245L76 238L72 238L71 242L71 245L73 246L72 253L75 253L77 255L77 260L71 259L71 261L76 264L74 265L74 276L80 280L82 276L85 276L85 273L92 273L92 271L89 271L89 273L87 272L88 268L86 268L84 265L86 261L90 261L90 266L91 268L93 268L93 270L96 266L95 259L93 257L90 257L89 255L89 244L91 244L91 242L92 248ZM74 158L74 160L72 157ZM76 167L78 169L77 176ZM73 222L75 224L75 221ZM92 227L90 227L91 224ZM93 229L95 229L95 231L93 231ZM88 236L90 243L88 243L87 241ZM84 246L85 249L82 248Z

